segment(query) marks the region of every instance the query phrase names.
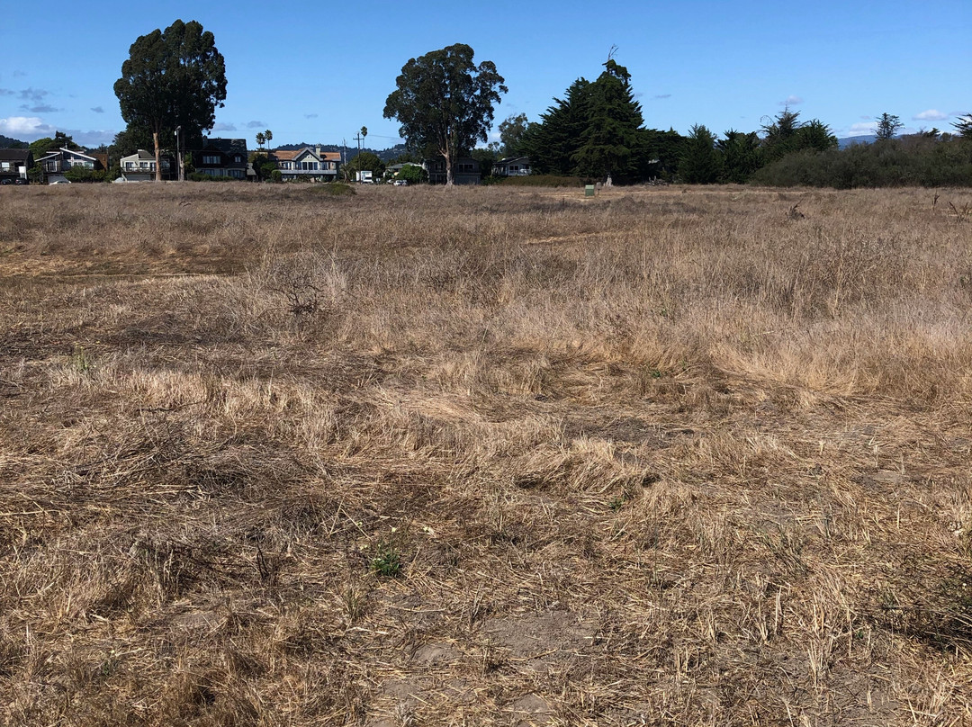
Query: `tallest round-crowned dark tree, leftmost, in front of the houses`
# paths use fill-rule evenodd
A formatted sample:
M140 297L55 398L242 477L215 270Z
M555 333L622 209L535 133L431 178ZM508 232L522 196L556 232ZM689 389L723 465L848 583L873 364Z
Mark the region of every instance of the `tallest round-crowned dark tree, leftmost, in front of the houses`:
M195 20L176 20L131 45L115 95L129 127L152 133L160 181L159 139L174 138L181 126L183 139L198 142L213 127L226 99L226 63L211 32Z

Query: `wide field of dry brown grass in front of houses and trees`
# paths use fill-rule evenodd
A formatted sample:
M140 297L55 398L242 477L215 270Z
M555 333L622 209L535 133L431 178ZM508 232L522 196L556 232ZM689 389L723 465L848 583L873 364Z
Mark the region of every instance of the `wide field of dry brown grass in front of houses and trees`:
M938 195L0 190L0 723L972 724Z

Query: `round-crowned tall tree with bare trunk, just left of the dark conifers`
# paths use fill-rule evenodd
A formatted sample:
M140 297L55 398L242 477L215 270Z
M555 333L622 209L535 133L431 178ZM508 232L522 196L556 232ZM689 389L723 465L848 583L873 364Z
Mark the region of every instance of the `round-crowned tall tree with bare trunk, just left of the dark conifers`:
M398 119L410 146L431 144L445 157L447 186L456 156L489 138L494 106L506 92L493 61L476 66L472 56L469 46L457 43L411 58L385 101L384 117Z

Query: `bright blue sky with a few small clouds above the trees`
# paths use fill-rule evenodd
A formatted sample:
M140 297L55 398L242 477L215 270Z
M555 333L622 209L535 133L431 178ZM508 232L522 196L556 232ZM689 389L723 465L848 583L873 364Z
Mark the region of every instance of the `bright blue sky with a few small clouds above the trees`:
M496 122L537 121L611 46L649 127L756 130L784 105L838 136L869 133L883 112L906 130L951 129L972 112L972 0L441 0L251 2L115 0L0 3L0 133L61 130L88 146L124 127L112 90L134 40L198 20L226 57L214 136L269 128L273 142L399 141L382 118L411 57L466 43L493 60L509 93Z

